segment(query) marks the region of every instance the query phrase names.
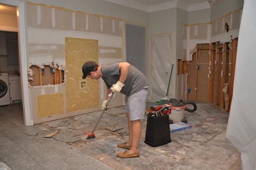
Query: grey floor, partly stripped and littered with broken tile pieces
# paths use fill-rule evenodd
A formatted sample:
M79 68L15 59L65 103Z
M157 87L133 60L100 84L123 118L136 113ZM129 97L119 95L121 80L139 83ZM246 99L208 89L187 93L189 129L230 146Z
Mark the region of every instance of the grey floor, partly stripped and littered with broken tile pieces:
M218 118L223 110L196 102L185 111L188 124L199 126ZM157 103L147 102L146 109ZM128 141L125 107L105 111L95 138L93 129L101 111L26 127L21 103L0 106L0 162L11 170L242 170L238 150L226 138L229 114L217 120L171 133L171 143L151 147L144 143L147 116L141 120L139 158L122 159ZM54 132L54 136L45 137ZM90 134L90 133L89 133Z

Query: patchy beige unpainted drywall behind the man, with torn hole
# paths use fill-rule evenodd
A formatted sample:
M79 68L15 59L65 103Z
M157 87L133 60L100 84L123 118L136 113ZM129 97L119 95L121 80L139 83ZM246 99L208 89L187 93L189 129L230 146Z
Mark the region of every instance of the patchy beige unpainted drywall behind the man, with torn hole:
M81 88L82 65L89 60L100 65L122 61L122 26L121 20L112 17L27 4L28 67L46 68L57 64L64 70L65 78L61 85L43 82L43 85L30 86L34 123L101 110L106 98L104 82L87 78L87 88ZM50 100L53 96L55 101ZM44 106L47 112L42 114L39 100L61 101L63 105L59 107L64 110L56 112L49 104ZM110 103L110 107L121 106L122 95L115 94Z

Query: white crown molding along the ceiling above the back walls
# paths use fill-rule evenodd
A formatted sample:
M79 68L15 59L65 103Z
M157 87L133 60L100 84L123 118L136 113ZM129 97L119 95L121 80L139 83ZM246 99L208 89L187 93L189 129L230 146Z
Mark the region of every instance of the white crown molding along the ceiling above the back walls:
M180 2L179 0L174 0L171 2L166 2L158 5L146 6L141 3L134 2L132 0L105 0L105 1L123 5L130 8L134 8L134 9L138 9L138 10L142 10L145 12L156 12L156 11L171 9L171 8L180 8L189 12L194 10L210 8L209 2L203 2L195 5L187 5L183 2Z

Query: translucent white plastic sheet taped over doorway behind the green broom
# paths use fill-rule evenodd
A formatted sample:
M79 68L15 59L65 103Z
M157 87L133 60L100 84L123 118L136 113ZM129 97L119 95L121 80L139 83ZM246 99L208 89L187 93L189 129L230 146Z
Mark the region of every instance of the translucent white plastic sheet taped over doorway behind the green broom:
M173 64L172 34L151 36L151 101L166 96ZM172 75L173 77L174 75ZM172 95L172 80L167 97Z

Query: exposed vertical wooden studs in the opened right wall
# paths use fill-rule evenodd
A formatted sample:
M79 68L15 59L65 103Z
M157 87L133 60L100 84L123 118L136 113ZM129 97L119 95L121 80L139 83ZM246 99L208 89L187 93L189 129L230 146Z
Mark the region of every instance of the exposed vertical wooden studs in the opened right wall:
M198 48L198 44L196 45L196 57L195 62L196 66L197 60L198 60L198 51L199 50L208 50L209 53L209 76L208 76L208 96L207 96L207 102L213 102L214 106L218 105L218 97L219 97L219 108L224 109L225 107L225 98L224 98L224 92L223 89L225 87L225 81L226 81L226 65L227 65L227 43L222 44L221 46L217 46L219 42L211 43L209 44L209 48ZM232 95L233 95L233 85L234 85L234 75L235 75L235 66L236 66L236 56L237 56L237 47L238 47L238 38L235 38L230 43L232 48L229 48L229 88L228 88L228 94L230 96L229 98L229 108L228 111L230 111L230 106L232 102ZM214 47L215 46L215 47ZM214 52L215 60L214 60ZM221 58L220 58L220 52L221 52ZM221 62L221 63L220 63ZM221 64L221 72L219 72L219 64ZM183 61L183 74L186 74L187 72L187 90L189 88L189 74L190 74L190 61ZM186 67L186 69L184 68ZM214 68L214 71L213 71ZM195 96L194 100L197 100L197 82L198 82L198 70L195 68ZM213 78L214 74L214 78ZM221 74L220 82L219 82L219 74ZM213 83L214 82L214 83ZM220 93L218 96L219 91L219 84L220 84ZM189 93L187 92L186 98L189 99ZM213 100L213 101L212 101Z

